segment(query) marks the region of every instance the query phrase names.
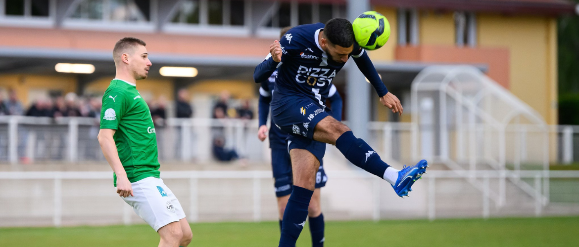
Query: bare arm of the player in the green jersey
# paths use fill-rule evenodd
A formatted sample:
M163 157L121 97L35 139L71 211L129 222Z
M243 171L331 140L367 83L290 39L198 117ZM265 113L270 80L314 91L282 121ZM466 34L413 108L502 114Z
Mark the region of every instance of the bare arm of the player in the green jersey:
M102 154L107 158L109 165L111 165L113 172L116 174L116 193L122 197L133 196L131 182L127 178L123 164L120 163L119 153L113 139L115 132L115 130L109 128L102 128L98 131L98 143L101 145Z

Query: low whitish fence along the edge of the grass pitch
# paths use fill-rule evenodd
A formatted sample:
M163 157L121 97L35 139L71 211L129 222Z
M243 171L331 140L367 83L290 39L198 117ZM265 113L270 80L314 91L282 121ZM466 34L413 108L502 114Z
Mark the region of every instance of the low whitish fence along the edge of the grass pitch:
M431 171L405 199L395 196L387 182L365 172L328 171L328 175L322 207L329 220L579 215L579 171ZM0 191L0 226L142 223L115 194L111 176L111 172L0 172L0 186L5 188ZM162 178L190 222L277 218L269 171L171 171L162 172ZM493 204L490 191L504 178L530 180L536 194L512 187L504 205ZM483 186L474 187L468 179L482 179ZM545 187L552 191L549 202L540 192Z

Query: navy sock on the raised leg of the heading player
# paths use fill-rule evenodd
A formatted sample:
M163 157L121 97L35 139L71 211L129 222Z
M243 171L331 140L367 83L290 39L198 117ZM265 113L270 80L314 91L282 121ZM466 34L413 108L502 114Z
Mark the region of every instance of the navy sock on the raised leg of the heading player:
M362 139L354 137L352 131L346 131L336 140L336 148L352 164L370 172L380 178L384 178L384 172L390 165L384 163L378 153Z

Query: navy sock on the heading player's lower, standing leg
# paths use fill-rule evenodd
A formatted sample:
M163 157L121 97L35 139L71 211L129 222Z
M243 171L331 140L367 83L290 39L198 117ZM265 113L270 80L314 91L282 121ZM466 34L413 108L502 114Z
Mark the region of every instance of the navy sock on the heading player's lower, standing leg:
M290 200L285 206L284 217L281 220L281 237L279 247L294 247L299 234L306 224L307 207L312 200L314 191L294 185Z

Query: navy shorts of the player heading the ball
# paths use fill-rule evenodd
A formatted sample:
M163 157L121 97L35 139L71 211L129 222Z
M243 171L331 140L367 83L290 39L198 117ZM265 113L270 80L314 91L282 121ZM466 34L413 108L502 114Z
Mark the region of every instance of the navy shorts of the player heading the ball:
M309 98L291 97L284 102L272 106L273 123L290 135L314 139L314 127L329 114Z

